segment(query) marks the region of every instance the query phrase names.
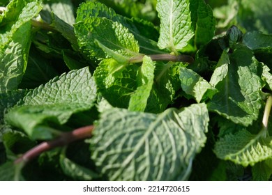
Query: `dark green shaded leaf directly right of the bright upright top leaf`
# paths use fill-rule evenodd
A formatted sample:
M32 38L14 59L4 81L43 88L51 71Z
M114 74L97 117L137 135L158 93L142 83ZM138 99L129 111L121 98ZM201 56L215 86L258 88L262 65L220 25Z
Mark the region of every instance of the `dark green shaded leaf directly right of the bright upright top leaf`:
M216 19L213 10L204 0L190 0L192 26L195 29L195 45L197 47L209 42L216 31Z

